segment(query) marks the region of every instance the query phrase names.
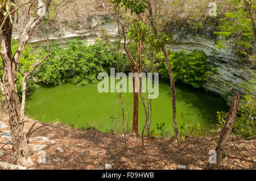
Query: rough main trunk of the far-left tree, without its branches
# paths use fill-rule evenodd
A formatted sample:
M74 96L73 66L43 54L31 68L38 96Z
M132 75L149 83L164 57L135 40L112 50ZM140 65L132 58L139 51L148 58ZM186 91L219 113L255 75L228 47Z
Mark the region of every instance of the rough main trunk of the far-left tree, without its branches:
M3 62L3 91L6 100L6 107L9 113L9 124L13 142L14 159L18 163L22 157L29 156L27 139L24 132L24 122L20 113L19 96L16 88L16 63L13 61L11 52L11 27L5 27L2 33L2 62ZM5 47L5 48L3 48Z

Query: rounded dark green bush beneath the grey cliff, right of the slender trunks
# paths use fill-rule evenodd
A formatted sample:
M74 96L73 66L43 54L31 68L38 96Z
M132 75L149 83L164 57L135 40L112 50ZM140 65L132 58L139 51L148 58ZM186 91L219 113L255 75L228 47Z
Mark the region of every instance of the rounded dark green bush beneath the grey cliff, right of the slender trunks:
M196 88L201 87L208 76L216 72L216 69L211 68L207 62L203 50L192 50L191 53L185 53L185 50L169 51L169 58L175 81L180 79ZM168 69L162 52L156 54L154 64L156 71L159 71L163 78L168 79Z

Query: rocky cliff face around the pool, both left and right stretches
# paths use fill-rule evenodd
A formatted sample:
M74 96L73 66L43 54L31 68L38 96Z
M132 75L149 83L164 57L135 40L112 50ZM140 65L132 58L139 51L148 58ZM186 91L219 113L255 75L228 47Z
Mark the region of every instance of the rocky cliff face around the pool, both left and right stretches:
M104 30L110 36L110 39L117 39L117 25L114 23L114 15L108 13L94 13L84 15L80 18L82 23L80 28L67 28L51 32L49 36L50 41L55 41L56 44L65 44L67 41L76 37L86 39L87 43L93 43L96 37L101 35ZM207 33L205 33L207 35ZM221 94L223 89L229 87L229 84L240 85L243 81L250 79L250 70L255 72L255 65L251 65L246 60L241 60L237 56L236 50L227 45L226 49L218 50L214 53L214 45L216 39L210 36L186 33L185 35L174 33L174 44L167 44L166 47L172 51L186 50L190 52L193 49L204 50L208 56L208 61L211 65L218 68L218 74L215 78L203 84L203 89ZM14 35L18 39L17 35ZM34 36L30 39L29 43L37 47L46 44L46 36Z

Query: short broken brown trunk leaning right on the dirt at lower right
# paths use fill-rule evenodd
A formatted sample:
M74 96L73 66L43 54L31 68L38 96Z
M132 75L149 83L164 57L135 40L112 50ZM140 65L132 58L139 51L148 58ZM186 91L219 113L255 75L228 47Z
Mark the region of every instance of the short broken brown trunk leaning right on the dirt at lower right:
M239 106L239 100L240 100L240 95L237 93L236 95L233 96L230 110L228 112L228 115L226 116L225 125L222 128L220 138L218 139L218 144L215 149L217 163L208 163L207 167L205 168L207 170L216 169L218 167L218 163L220 163L222 153L224 150L224 145L226 144L226 140L227 140L229 134L232 132L234 120L236 119L237 109Z

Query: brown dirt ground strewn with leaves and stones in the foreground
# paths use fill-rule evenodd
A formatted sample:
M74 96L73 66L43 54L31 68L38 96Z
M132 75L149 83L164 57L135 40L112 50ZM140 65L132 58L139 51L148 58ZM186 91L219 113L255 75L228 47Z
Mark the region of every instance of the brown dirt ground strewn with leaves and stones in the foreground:
M0 115L6 124L0 129L0 162L10 163L12 149L8 117ZM217 137L186 137L180 145L175 138L145 140L144 154L141 138L127 136L124 149L121 134L79 130L60 123L40 123L26 119L24 123L31 148L32 169L204 169L208 163L209 150L215 148ZM252 169L256 159L256 140L239 140L230 136L219 169ZM43 151L45 162L42 162ZM2 168L4 169L4 168ZM29 169L29 168L28 168Z

